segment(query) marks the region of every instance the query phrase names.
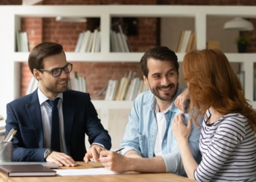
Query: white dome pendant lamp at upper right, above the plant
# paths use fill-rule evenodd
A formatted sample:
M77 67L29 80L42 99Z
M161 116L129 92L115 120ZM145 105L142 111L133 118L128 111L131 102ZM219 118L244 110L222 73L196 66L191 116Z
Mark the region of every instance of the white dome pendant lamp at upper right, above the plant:
M234 19L225 23L224 29L237 31L252 31L254 30L254 26L250 21L244 20L244 18L235 17Z

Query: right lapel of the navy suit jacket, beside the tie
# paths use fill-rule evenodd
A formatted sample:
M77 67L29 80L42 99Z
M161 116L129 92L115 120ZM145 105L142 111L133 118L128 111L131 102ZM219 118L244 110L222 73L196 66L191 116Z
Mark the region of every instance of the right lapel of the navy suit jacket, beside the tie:
M67 154L70 155L72 125L75 114L75 100L72 98L72 94L69 91L63 93L62 112Z

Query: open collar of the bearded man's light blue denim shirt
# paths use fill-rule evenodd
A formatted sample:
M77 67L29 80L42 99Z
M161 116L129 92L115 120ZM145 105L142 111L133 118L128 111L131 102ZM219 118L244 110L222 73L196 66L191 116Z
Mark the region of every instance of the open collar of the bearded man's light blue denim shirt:
M168 110L172 112L176 112L178 110L178 108L174 104L174 101L176 100L178 95L180 95L181 92L183 92L183 90L184 89L181 87L178 88L177 93L173 98L173 102L170 104L170 107L168 108ZM151 111L156 111L157 99L155 98L152 92L151 92L151 96L143 103L143 105L148 106L151 109Z

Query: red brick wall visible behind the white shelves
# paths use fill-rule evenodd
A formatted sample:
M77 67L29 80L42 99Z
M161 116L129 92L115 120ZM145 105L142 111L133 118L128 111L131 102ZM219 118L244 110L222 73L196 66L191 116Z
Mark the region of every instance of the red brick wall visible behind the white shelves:
M0 4L21 4L21 0L0 0ZM254 0L44 0L39 4L181 4L181 5L256 5ZM27 31L29 36L30 50L39 42L55 41L62 44L64 51L72 52L75 50L75 44L78 39L78 33L86 30L86 23L57 23L54 18L23 18L22 31ZM251 19L256 25L256 20ZM32 25L31 25L32 23ZM40 26L40 25L41 26ZM139 33L138 36L129 36L129 42L134 52L145 52L151 47L157 46L157 18L140 17L138 18ZM247 52L256 52L256 31L241 32L250 37L250 44ZM152 39L153 37L153 39ZM89 68L97 70L98 65L101 65L101 76L96 76L89 73ZM77 66L79 65L79 66ZM116 79L121 79L124 75L124 68L134 69L140 74L138 63L74 63L74 71L76 67L82 68L79 71L79 76L86 76L88 91L91 95L99 92L104 87L108 79L111 79L113 71L118 68L123 74L117 74ZM103 68L104 67L104 68ZM95 69L94 69L95 68ZM26 87L29 84L31 73L28 71L27 64L22 63L21 66L21 95L26 93ZM90 70L91 71L91 70ZM96 72L95 72L96 73Z

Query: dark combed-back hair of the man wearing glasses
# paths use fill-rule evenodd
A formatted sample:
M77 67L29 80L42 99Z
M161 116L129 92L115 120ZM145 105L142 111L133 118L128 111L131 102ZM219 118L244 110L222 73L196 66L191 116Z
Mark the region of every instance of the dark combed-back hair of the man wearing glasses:
M34 69L43 69L42 59L49 55L58 55L63 51L61 44L54 42L43 42L37 44L29 54L29 69L33 74ZM64 53L65 54L65 53Z

